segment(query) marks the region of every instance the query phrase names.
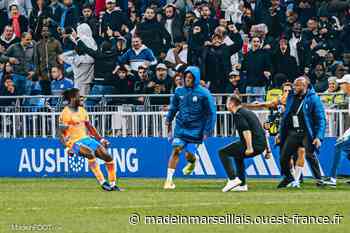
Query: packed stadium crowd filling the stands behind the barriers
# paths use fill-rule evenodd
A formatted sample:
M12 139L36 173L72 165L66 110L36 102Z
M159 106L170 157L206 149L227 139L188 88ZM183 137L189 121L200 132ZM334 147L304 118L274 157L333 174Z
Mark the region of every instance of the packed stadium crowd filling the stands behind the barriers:
M195 65L212 93L304 75L334 105L350 67L349 0L1 0L0 31L3 96L168 94Z

